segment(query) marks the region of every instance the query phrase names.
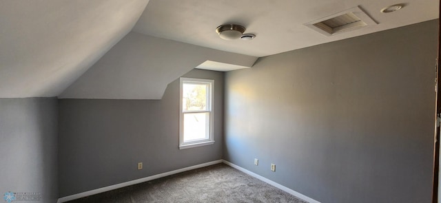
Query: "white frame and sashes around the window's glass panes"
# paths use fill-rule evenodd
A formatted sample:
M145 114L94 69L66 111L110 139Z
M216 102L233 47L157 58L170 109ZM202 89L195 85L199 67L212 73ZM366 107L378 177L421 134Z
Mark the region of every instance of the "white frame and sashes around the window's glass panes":
M188 149L192 147L200 147L204 145L213 145L214 144L214 80L200 79L200 78L180 78L180 93L179 93L179 149ZM201 111L183 111L183 84L184 83L202 83L208 84L209 88L207 89L207 110ZM196 113L196 112L209 112L209 136L207 139L202 140L194 140L191 142L184 142L184 114L186 113Z

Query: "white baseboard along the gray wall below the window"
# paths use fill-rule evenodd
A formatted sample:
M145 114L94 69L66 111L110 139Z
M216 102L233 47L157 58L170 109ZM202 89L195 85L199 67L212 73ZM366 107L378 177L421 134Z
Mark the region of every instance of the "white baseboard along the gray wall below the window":
M215 161L212 161L212 162L206 162L206 163L203 163L203 164L197 164L197 165L194 165L192 167L185 167L183 169L177 169L177 170L174 170L174 171L168 171L168 172L165 172L165 173L159 173L157 175L152 175L152 176L148 176L148 177L145 177L145 178L131 180L131 181L123 182L123 183L120 183L120 184L114 184L114 185L111 185L111 186L105 186L105 187L102 187L100 189L94 189L92 191L85 191L83 193L78 193L78 194L74 194L74 195L69 195L69 196L61 197L61 198L58 199L57 203L68 202L70 200L76 200L76 199L79 199L81 197L86 197L86 196L90 196L90 195L96 195L98 193L103 193L103 192L111 191L111 190L114 190L114 189L119 189L121 187L130 186L132 184L139 184L141 182L147 182L147 181L150 181L150 180L154 180L154 179L158 179L158 178L163 178L163 177L168 176L168 175L173 175L173 174L176 174L176 173L182 173L182 172L193 170L193 169L199 169L199 168L202 168L202 167L208 167L208 166L211 166L213 164L220 164L222 162L223 162L223 160L215 160Z

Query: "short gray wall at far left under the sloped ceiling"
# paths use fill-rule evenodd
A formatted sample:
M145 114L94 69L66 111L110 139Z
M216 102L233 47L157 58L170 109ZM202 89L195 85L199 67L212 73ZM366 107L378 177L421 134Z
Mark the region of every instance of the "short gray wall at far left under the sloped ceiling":
M0 193L58 198L57 98L0 99ZM3 201L3 200L1 200Z

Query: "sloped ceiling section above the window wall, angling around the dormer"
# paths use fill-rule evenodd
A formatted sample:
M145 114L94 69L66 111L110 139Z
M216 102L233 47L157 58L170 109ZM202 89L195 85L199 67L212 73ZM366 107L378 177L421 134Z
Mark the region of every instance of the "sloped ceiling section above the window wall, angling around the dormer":
M168 83L205 61L250 67L256 60L130 32L59 98L161 99Z

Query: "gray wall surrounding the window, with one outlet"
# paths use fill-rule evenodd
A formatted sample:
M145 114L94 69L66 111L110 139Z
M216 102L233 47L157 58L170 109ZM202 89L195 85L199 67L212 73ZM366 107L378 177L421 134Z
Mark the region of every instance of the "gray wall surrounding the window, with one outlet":
M222 158L223 72L214 79L214 145L179 150L179 80L162 100L59 100L60 197ZM142 170L136 169L143 162Z

